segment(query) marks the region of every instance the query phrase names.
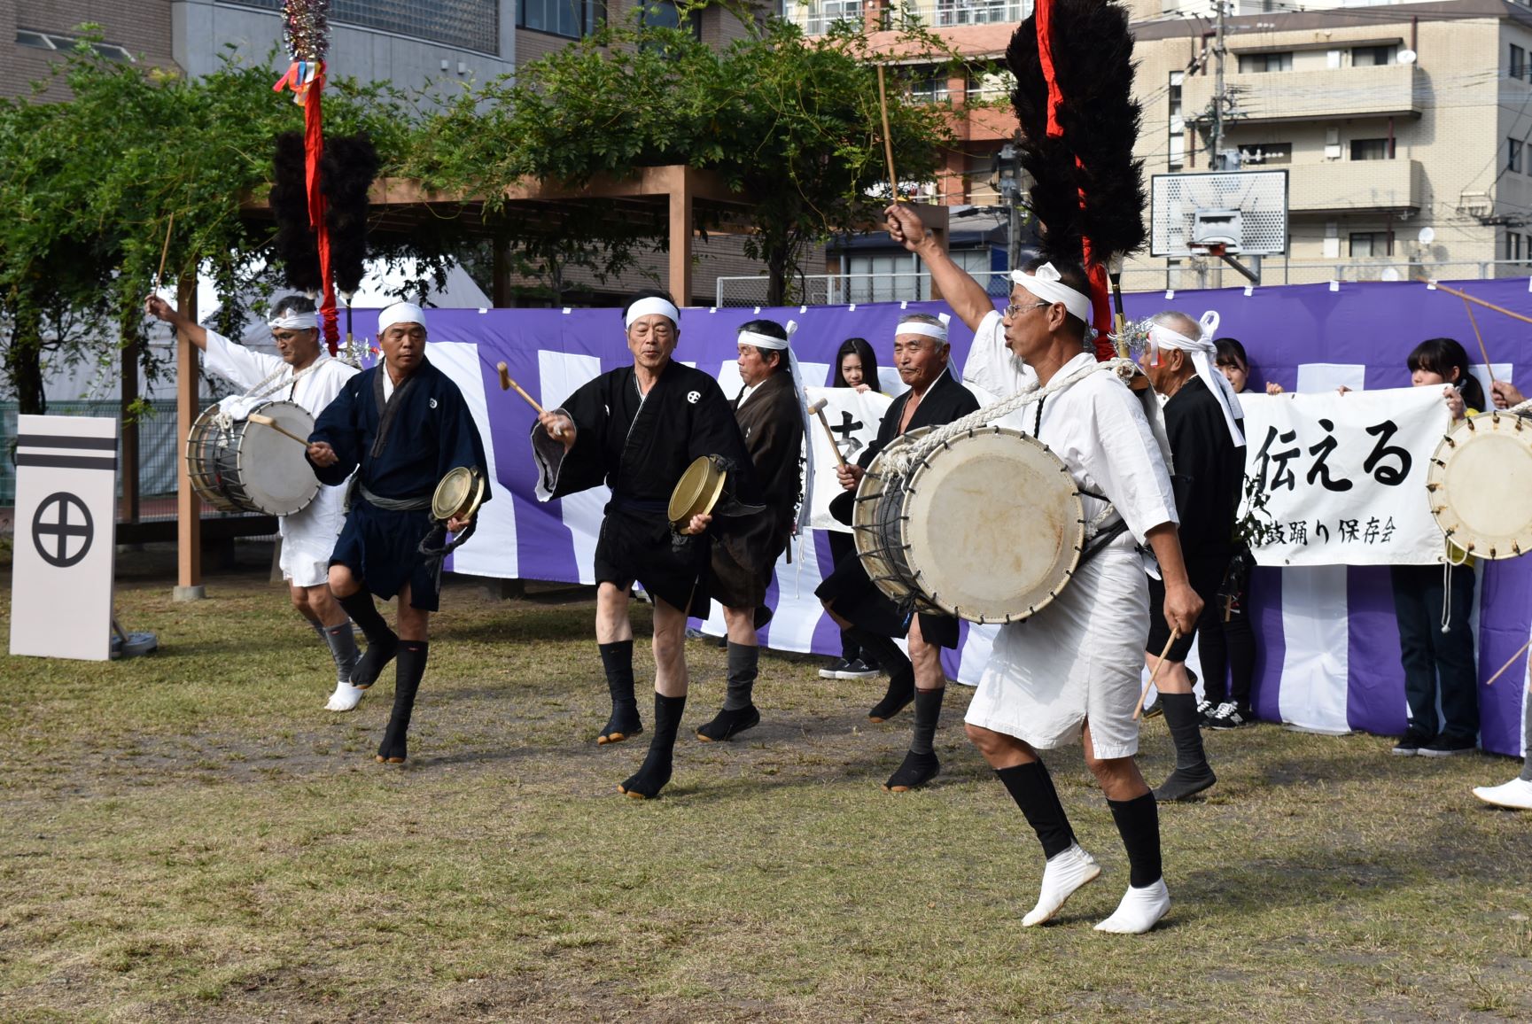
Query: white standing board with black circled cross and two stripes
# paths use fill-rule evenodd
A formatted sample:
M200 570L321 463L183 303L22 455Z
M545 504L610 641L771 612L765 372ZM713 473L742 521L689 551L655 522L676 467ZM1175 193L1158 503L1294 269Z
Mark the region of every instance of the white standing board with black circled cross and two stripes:
M116 419L20 416L11 654L112 655Z

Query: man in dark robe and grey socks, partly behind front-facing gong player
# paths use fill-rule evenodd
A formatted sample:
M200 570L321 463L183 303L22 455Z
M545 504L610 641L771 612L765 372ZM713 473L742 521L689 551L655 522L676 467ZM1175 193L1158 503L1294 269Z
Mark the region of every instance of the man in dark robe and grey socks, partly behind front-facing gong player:
M703 741L728 739L761 719L752 700L760 660L755 629L771 618L766 586L803 507L804 421L787 347L791 326L775 320L740 326L738 367L745 387L734 399L734 416L766 511L740 520L737 530L720 534L712 546L709 589L723 605L729 675L723 710L697 730Z

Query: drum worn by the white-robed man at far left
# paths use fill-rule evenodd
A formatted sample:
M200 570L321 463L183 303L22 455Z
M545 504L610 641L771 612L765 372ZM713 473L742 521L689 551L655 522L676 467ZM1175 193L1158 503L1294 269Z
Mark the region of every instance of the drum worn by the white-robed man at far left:
M290 401L257 403L241 416L208 406L187 436L192 488L219 511L268 516L302 511L319 493L314 470L303 458L303 444L270 424L247 419L251 413L270 418L299 438L314 430L308 410Z

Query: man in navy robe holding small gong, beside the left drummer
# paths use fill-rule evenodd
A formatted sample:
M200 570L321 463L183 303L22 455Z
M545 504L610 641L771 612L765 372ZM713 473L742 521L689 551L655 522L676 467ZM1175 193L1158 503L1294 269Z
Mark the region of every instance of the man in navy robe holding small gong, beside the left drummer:
M308 461L320 484L343 484L352 471L355 493L346 525L329 556L329 589L351 621L362 626L368 652L351 684L369 687L395 657L394 712L377 759L403 764L415 692L426 673L430 612L440 608L435 566L420 554L432 530L430 496L447 470L489 471L484 442L452 380L426 360L426 314L394 303L378 314L381 361L348 380L319 415ZM489 501L486 493L484 501ZM450 520L453 533L466 520ZM374 595L398 595L398 632L383 621Z

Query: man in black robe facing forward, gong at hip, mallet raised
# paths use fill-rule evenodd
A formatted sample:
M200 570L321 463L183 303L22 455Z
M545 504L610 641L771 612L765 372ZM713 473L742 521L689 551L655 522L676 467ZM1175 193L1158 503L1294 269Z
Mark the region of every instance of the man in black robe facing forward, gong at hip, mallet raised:
M611 718L597 744L643 732L633 683L634 580L654 600L654 735L639 771L617 790L656 796L671 778L671 755L686 707L686 615L706 617L708 517L671 528L671 491L686 467L715 456L734 496L755 496L751 458L719 383L671 358L680 311L643 291L622 311L633 366L602 373L539 416L532 450L538 497L548 501L602 482L611 488L596 542L596 643L611 692Z

